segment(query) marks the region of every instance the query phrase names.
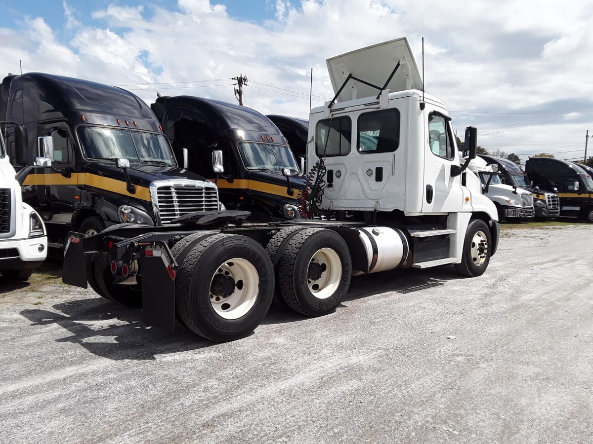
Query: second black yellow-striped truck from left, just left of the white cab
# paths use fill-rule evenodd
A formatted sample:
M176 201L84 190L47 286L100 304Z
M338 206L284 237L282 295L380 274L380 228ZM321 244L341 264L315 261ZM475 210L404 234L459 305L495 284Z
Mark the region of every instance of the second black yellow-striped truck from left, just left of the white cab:
M250 211L250 221L298 217L305 178L285 137L251 108L194 96L161 96L151 105L180 162L218 185L228 210ZM224 172L212 169L222 152Z

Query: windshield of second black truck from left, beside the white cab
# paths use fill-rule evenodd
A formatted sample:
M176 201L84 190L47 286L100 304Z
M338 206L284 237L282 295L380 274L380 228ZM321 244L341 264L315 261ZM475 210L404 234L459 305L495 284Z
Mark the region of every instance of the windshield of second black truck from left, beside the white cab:
M247 169L298 172L297 161L288 146L269 143L240 142L239 152Z

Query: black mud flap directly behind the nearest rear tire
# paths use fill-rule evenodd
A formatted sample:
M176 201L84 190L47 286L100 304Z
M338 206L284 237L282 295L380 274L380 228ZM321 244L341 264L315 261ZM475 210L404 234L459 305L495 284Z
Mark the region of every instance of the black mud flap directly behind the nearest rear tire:
M147 255L149 252L149 255ZM173 332L175 329L175 271L167 252L146 247L141 259L142 321Z

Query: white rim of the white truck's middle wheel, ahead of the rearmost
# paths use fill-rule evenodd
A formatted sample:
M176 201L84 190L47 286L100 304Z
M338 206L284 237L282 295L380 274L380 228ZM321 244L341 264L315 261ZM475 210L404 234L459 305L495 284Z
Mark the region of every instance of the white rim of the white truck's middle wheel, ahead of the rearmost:
M317 299L327 299L336 292L342 280L342 261L335 250L317 250L307 268L307 285Z

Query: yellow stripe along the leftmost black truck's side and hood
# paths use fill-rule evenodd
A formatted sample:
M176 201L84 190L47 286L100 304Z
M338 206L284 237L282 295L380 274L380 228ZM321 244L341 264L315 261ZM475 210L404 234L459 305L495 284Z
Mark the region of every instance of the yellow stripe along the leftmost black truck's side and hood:
M131 194L127 192L125 181L91 173L72 173L69 178L60 173L29 174L23 185L87 185L150 202L150 191L146 186L134 185L136 193Z

